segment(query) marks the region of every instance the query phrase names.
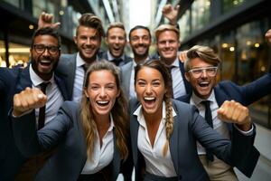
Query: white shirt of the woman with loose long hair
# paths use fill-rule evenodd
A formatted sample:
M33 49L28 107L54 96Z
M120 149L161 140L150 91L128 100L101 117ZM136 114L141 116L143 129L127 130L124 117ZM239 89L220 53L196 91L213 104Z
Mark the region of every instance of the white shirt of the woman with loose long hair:
M107 167L109 163L113 160L114 156L114 137L113 137L114 122L110 115L110 126L102 138L102 147L100 147L98 131L96 131L96 138L94 143L94 149L91 159L87 159L86 164L82 170L81 174L95 174Z

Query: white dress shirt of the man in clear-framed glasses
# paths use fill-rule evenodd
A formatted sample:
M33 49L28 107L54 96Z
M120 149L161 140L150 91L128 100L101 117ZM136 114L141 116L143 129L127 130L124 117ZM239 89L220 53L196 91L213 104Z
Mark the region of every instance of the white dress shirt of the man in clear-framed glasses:
M220 107L219 107L218 102L215 98L214 90L211 91L210 97L207 100L210 100L210 111L211 111L213 129L215 129L218 133L220 133L220 135L223 138L229 138L229 129L228 129L227 123L223 122L222 120L220 120L218 118L218 110L220 109ZM205 117L205 107L203 104L201 104L201 101L202 101L202 99L199 98L198 96L196 96L194 94L194 92L192 92L192 97L191 97L190 103L192 105L196 106L196 108L200 111L200 115L204 118ZM237 128L237 127L235 126L235 128ZM254 128L252 127L252 129L250 129L248 131L242 131L240 129L238 129L238 131L240 131L244 135L251 135L253 129ZM203 148L199 142L197 142L197 149L198 149L199 155L206 154L205 148Z

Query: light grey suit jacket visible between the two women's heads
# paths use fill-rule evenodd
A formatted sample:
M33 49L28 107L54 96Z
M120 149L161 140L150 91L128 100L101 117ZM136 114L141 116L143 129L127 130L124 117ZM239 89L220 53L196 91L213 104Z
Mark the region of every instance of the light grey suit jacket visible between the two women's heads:
M129 97L130 97L130 82L131 82L131 79L134 79L134 77L131 77L131 73L133 69L134 69L134 62L128 62L125 65L120 67L121 85L122 85L122 89L125 93L127 100L129 100Z

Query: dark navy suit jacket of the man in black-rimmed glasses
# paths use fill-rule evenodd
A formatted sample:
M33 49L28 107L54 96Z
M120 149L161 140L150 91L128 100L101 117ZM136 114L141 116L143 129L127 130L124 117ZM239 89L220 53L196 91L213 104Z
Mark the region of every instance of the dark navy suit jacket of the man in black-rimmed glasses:
M55 73L54 80L61 90L63 99L67 100L68 94L62 77ZM8 111L13 107L14 94L26 87L32 87L29 65L25 69L0 68L0 180L14 180L14 176L19 172L25 160L14 145ZM35 120L34 117L33 120Z

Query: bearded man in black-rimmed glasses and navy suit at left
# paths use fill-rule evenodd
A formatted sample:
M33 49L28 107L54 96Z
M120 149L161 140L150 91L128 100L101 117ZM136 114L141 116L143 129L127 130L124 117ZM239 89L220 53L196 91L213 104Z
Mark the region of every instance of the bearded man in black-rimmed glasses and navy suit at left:
M33 34L30 52L31 62L26 68L0 68L0 180L32 180L32 176L41 166L33 166L31 170L30 167L24 167L24 157L14 145L8 120L14 94L27 87L41 89L43 83L47 85L44 90L48 96L43 119L45 122L38 123L40 110L32 111L37 128L51 121L62 101L68 99L63 78L54 72L61 55L60 35L51 28L37 30Z

